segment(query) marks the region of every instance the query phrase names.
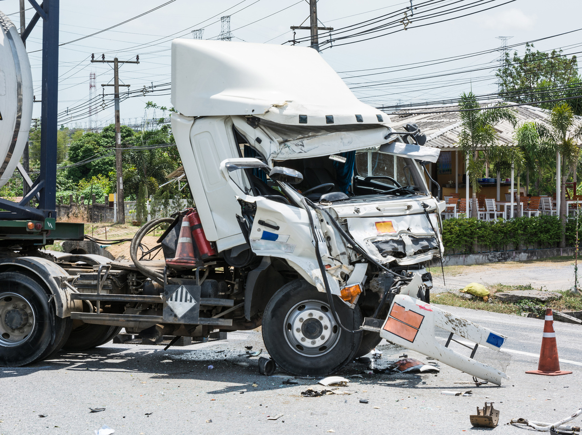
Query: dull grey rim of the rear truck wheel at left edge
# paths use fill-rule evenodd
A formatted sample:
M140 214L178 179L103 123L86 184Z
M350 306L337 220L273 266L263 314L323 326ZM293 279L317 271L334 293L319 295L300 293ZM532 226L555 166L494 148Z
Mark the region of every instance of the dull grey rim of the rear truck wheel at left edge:
M29 339L36 316L27 299L16 293L0 294L0 344L17 346Z

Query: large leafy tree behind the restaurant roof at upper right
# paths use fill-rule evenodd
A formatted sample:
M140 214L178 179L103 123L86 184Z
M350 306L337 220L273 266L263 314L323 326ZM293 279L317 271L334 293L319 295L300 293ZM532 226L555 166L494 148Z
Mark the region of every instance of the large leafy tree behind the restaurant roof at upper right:
M526 44L522 58L513 53L513 58L505 53L503 66L495 75L501 81L499 97L516 103L533 103L579 95L580 77L576 56L567 58L562 50L551 53L533 51L533 44ZM574 89L575 88L575 89ZM576 93L576 91L578 91ZM582 113L582 100L572 99L576 114ZM551 104L542 104L551 108Z

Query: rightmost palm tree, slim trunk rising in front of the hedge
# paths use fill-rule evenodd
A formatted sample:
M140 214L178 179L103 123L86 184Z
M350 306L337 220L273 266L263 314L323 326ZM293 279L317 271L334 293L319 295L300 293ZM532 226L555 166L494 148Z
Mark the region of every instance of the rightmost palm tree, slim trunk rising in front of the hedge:
M560 220L562 220L562 241L560 248L566 247L566 180L580 159L580 147L576 141L582 137L582 124L576 125L574 112L567 102L554 106L549 116L549 126L536 124L542 146L558 152L557 158L562 159L560 173Z

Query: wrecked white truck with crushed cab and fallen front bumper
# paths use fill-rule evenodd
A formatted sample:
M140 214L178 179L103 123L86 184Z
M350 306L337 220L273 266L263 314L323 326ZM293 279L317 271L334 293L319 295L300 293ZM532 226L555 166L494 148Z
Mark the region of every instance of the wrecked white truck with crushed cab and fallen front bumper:
M2 234L0 365L86 350L122 327L208 337L262 326L294 375L336 372L386 338L501 384L492 362L506 337L430 305L443 203L423 172L438 149L416 126L391 129L313 49L267 44L173 41L172 104L196 208L146 223L132 261ZM32 222L43 243L82 238ZM157 248L164 262L147 259ZM492 366L477 361L483 347Z

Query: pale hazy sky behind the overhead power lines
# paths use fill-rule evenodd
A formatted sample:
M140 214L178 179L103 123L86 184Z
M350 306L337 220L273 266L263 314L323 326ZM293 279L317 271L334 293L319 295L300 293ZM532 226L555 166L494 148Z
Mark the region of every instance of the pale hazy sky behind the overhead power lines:
M455 3L453 0L319 0L320 26L335 28L335 37L355 33L346 29L342 34L339 28L381 16L393 15L389 21L397 22L391 30L335 41L332 47L324 43L329 39L329 34L324 33L320 38L324 48L321 55L367 104L419 104L456 98L462 92L494 93L497 89L495 67L499 65L496 49L502 44L499 36L511 37L507 43L512 45L582 28L580 1L460 0L457 6L469 6L475 1L478 4L462 12L422 20L431 9L441 6L442 9L435 9L438 12L446 9L446 4ZM410 11L407 13L410 24L404 31L398 20L404 18L404 8L411 4L416 8L416 17L410 16ZM112 30L66 44L160 5L164 6ZM449 20L487 8L491 9ZM16 13L10 18L19 27L18 0L0 1L0 10L7 15ZM27 22L33 12L27 10ZM309 5L307 0L61 0L59 42L65 45L59 49L59 124L87 127L90 73L95 73L98 95L102 94L101 84L112 83L112 66L91 63L92 53L95 58L101 58L101 54L105 54L106 59L117 56L120 62L135 60L139 55L139 65L120 67L120 80L129 84L131 91L143 90L144 86L150 89L154 86L156 90L145 95L134 92L131 98L124 99L120 108L122 123L140 123L144 116L161 117L164 114L161 110L154 113L154 109L146 110L145 104L152 101L158 106L172 106L169 87L159 86L171 81L172 38L191 38L191 30L202 28L203 39L218 38L221 16L225 15L230 15L233 41L284 44L293 39L290 26L308 25ZM433 24L421 26L426 23ZM297 30L296 38L304 40L308 34L307 30ZM27 40L37 99L42 98L41 35L39 23ZM379 37L371 40L358 41L377 35ZM343 42L350 43L340 45ZM308 42L300 45L308 45ZM534 45L540 51L563 48L565 54L578 55L582 51L582 30L547 38ZM511 52L514 50L522 55L524 45ZM464 56L475 53L480 54ZM434 62L455 56L460 58ZM278 67L283 66L273 65L272 69L276 72ZM104 89L106 94L112 92L112 87ZM105 95L104 99L95 102L93 126L113 122L111 101L112 95ZM35 105L33 116L40 116L40 104Z

